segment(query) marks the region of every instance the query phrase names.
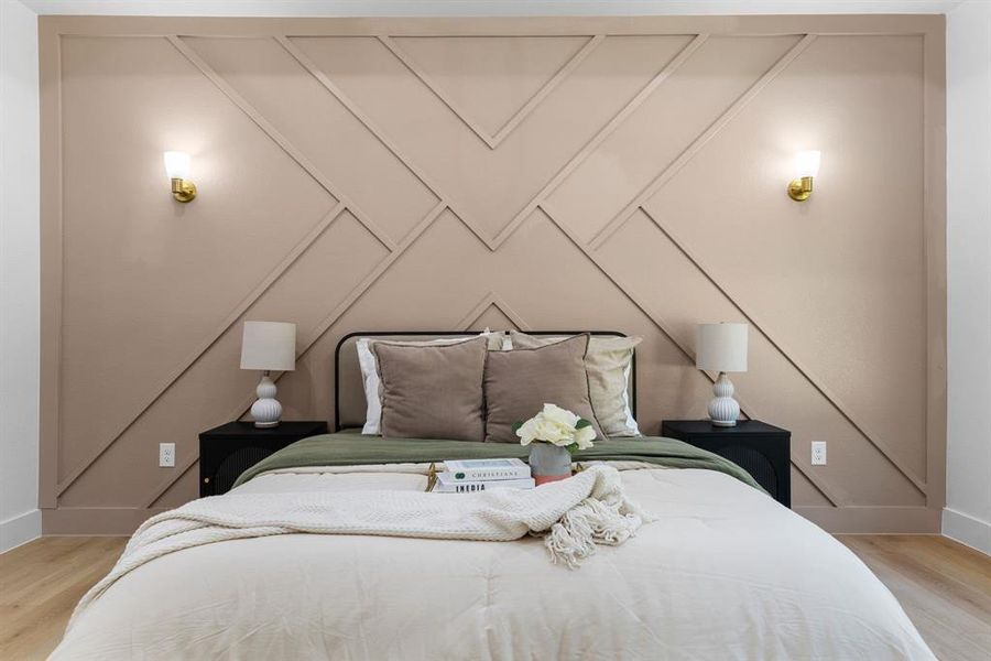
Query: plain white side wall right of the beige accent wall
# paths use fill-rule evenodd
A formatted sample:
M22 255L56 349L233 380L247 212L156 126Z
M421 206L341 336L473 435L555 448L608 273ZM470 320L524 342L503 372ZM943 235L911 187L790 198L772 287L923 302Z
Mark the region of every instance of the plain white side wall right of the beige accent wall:
M991 554L991 2L947 14L947 408L943 532Z

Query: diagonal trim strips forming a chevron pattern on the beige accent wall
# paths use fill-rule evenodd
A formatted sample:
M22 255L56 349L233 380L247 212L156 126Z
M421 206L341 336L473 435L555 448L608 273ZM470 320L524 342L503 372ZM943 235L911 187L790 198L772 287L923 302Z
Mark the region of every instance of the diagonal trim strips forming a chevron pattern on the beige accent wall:
M616 133L624 122L627 122L645 101L663 88L664 83L675 75L678 69L690 62L691 58L699 53L709 40L706 34L690 36L686 43L677 48L661 66L654 75L652 75L645 85L632 95L629 100L619 106L619 109L612 112L608 120L602 123L596 131L586 139L578 142L577 149L571 149L567 156L562 159L559 163L553 167L552 173L544 181L544 184L527 201L523 202L519 207L519 212L508 217L497 231L492 231L490 226L486 226L476 219L470 205L462 203L456 191L444 189L445 176L437 176L436 173L425 166L421 161L423 154L415 154L415 149L402 143L395 137L389 134L388 129L377 121L374 111L364 110L358 101L345 90L345 86L335 80L334 76L322 68L319 62L307 52L305 46L297 43L297 40L288 35L277 35L272 37L284 51L291 56L300 67L302 67L309 76L313 77L327 94L334 97L344 108L357 119L361 126L373 136L402 165L412 173L415 178L422 183L435 197L436 203L433 207L411 227L404 235L400 237L393 236L388 228L377 224L371 214L367 213L361 206L348 194L341 189L330 177L324 174L315 162L307 155L307 149L304 145L294 144L276 124L266 119L266 117L244 96L235 85L229 83L224 75L218 73L206 57L196 51L187 41L178 35L168 36L168 42L188 59L202 74L210 80L237 108L239 108L254 124L279 145L292 160L305 171L315 182L319 184L334 199L338 201L336 205L320 219L320 221L300 241L262 281L251 291L250 295L241 301L237 307L232 308L225 317L222 324L207 338L204 339L188 355L186 360L168 373L164 380L157 383L150 397L145 399L143 405L139 408L137 413L130 421L122 426L116 434L108 437L88 456L84 462L68 472L57 486L57 494L64 494L85 472L92 466L100 456L109 449L119 438L121 438L128 430L144 415L159 399L168 391L190 369L190 367L208 351L211 346L227 333L236 327L238 322L244 318L246 313L254 305L272 285L286 273L294 263L303 256L317 239L323 236L328 228L337 223L346 213L350 214L358 223L360 223L367 231L372 235L388 250L388 254L378 262L372 270L364 275L342 301L340 301L333 310L330 310L323 319L308 333L304 342L300 346L300 359L305 359L307 354L318 345L322 338L341 319L341 317L352 308L362 296L369 292L382 278L384 278L390 269L414 246L437 220L447 214L462 224L471 235L480 241L490 252L497 252L502 248L513 235L520 230L531 218L541 217L549 221L568 242L574 245L585 257L588 264L593 267L602 277L605 277L614 286L616 294L624 297L638 310L640 310L651 323L680 351L687 361L693 360L693 355L684 339L684 336L672 326L671 323L662 318L653 305L646 301L642 294L636 293L636 285L633 282L624 281L623 277L613 269L606 259L602 258L602 249L608 245L610 239L617 236L632 218L638 215L646 217L654 224L660 231L669 240L677 250L680 251L691 264L705 275L719 295L733 306L739 315L748 321L759 334L763 342L769 343L775 351L777 351L792 368L797 371L801 377L815 388L825 400L827 400L835 409L836 413L842 416L849 424L865 440L871 443L878 451L901 473L919 492L926 494L926 484L919 479L910 467L902 462L893 448L889 447L880 436L871 433L867 425L858 420L853 410L839 400L832 393L821 379L817 378L810 370L801 364L794 356L795 351L788 350L784 343L776 339L771 329L759 322L754 314L730 295L725 283L716 281L709 274L701 256L690 250L684 241L679 240L674 230L667 227L663 219L651 215L645 208L645 204L655 196L667 182L677 176L678 172L697 154L699 154L706 145L716 137L725 127L727 127L734 117L750 104L760 93L770 85L782 72L784 72L793 62L795 62L814 42L814 35L805 35L796 37L793 45L787 47L783 55L777 57L766 71L760 74L743 91L736 96L731 104L719 112L711 122L705 126L705 129L687 141L686 145L677 152L675 158L664 163L657 174L651 178L646 186L636 192L629 203L612 218L606 221L601 228L589 239L576 232L569 227L567 221L556 217L558 212L555 205L549 201L558 187L568 180L568 177L582 166L586 161L596 153L613 133ZM510 141L514 132L518 131L531 118L535 117L541 104L549 99L556 89L564 85L569 76L580 68L584 63L590 59L590 56L600 50L605 43L611 37L606 35L589 35L584 45L570 56L566 63L553 72L549 79L544 83L540 89L530 97L530 99L512 115L512 117L494 133L484 130L478 121L472 119L470 115L460 107L460 105L445 91L442 85L433 79L431 74L417 64L404 48L393 37L381 35L375 37L378 42L391 53L399 63L412 72L420 83L427 88L433 95L440 99L446 109L455 113L465 127L481 140L487 151L498 154L501 147ZM287 100L287 102L290 102ZM437 121L442 121L438 119ZM461 167L461 164L455 163L453 166ZM526 329L530 327L520 314L514 310L511 296L508 292L488 291L478 300L469 311L460 316L456 324L459 328L470 328L480 316L490 308L498 310L502 315L510 319L518 328ZM705 375L710 381L712 375ZM244 397L230 409L229 418L242 415L249 408L253 395L244 393ZM745 401L741 402L750 416L758 416L753 407ZM196 465L198 456L195 449L188 449L183 454L185 459L178 465L177 469L143 499L142 507L154 507L162 497L174 486L193 466ZM816 489L834 506L845 506L850 502L849 496L838 486L829 485L821 477L813 473L808 464L797 457L793 457L795 467L812 483Z

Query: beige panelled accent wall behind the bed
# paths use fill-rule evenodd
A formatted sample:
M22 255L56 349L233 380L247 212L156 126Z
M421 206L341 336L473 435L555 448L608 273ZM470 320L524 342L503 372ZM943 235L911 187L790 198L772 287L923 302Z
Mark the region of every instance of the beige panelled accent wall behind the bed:
M196 496L197 433L252 400L246 318L297 324L287 419L333 415L356 329L643 335L653 433L705 415L695 324L748 322L795 508L938 531L941 17L42 18L41 59L46 532Z

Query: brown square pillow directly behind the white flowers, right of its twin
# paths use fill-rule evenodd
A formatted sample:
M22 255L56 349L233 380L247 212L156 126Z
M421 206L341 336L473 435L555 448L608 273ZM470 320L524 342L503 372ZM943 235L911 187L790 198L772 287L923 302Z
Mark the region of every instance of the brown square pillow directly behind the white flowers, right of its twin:
M486 358L486 443L519 443L513 425L557 404L592 423L602 438L588 395L588 335L532 349L490 351Z

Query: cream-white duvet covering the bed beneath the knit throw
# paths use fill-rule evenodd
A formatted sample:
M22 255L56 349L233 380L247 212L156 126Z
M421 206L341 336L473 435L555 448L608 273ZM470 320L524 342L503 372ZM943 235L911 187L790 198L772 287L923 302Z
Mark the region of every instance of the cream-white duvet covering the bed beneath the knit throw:
M222 541L123 576L53 659L934 658L850 551L766 495L709 470L622 478L656 520L578 570L534 538ZM301 469L238 491L424 485L411 466Z

